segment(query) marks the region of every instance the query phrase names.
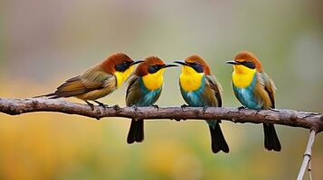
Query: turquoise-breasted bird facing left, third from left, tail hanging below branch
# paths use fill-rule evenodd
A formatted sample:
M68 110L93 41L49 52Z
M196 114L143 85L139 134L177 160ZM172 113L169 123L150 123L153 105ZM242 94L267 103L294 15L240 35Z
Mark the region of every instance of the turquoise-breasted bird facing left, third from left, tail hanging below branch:
M222 87L217 82L215 76L211 74L210 67L204 58L199 55L192 55L183 60L176 60L175 63L182 65L182 72L179 76L179 86L181 94L188 106L204 107L221 107ZM187 105L182 105L185 107ZM220 127L220 120L206 121L211 133L211 148L214 153L222 150L224 153L229 152L229 146L224 139Z

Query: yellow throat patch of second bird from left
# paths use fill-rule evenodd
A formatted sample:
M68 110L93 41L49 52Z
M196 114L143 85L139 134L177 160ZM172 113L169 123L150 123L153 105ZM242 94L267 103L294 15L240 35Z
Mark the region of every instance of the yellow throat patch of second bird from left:
M142 77L144 81L144 85L150 91L155 91L163 85L164 77L163 74L165 72L165 68L158 70L154 74L147 74L146 76Z

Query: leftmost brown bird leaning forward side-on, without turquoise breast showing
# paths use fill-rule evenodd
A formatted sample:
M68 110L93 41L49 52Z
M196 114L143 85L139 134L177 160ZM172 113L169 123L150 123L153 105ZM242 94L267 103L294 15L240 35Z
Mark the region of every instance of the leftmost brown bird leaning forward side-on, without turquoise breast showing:
M66 80L57 87L55 92L38 95L35 98L76 97L89 104L91 110L94 110L94 104L89 101L108 107L107 104L100 103L97 99L115 91L131 74L133 66L141 62L143 60L134 61L122 52L113 53L100 64L88 68L81 75Z

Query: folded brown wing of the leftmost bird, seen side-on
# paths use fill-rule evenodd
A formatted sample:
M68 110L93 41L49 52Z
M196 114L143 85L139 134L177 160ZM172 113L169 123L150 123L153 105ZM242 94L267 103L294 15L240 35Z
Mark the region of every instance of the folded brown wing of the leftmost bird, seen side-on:
M105 73L100 67L91 67L83 75L68 79L57 88L53 95L54 97L71 97L115 85L115 76Z

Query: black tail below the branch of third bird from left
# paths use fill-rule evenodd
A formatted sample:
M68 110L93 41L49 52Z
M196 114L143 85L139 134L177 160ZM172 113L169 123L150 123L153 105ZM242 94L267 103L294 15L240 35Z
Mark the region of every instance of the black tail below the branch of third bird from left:
M222 150L223 152L228 153L229 146L224 139L224 136L220 127L220 123L216 122L214 124L214 127L209 125L209 128L211 132L212 151L214 153L217 153L220 150Z

